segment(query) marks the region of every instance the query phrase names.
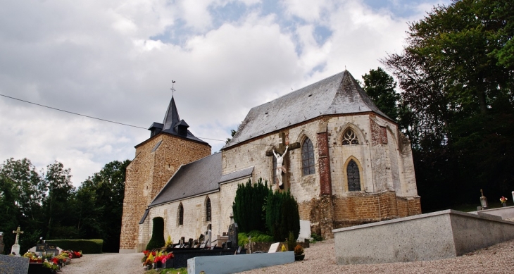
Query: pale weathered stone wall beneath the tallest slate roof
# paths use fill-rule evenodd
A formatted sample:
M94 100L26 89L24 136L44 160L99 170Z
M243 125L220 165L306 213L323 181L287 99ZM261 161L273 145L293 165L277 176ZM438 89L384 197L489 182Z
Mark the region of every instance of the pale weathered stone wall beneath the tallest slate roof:
M320 147L318 132L327 127L332 195L320 194ZM344 132L351 128L359 144L342 145ZM371 223L421 213L415 192L410 144L396 124L375 114L329 116L280 130L289 143L311 139L315 148L315 174L301 174L301 148L289 151L284 185L299 202L300 218L311 220L311 230L332 237L333 228ZM255 166L253 179L273 177L272 157L265 151L279 143L278 131L223 151L223 174ZM361 191L349 192L346 164L353 159L360 166ZM274 185L276 189L276 185ZM235 192L234 192L235 193Z

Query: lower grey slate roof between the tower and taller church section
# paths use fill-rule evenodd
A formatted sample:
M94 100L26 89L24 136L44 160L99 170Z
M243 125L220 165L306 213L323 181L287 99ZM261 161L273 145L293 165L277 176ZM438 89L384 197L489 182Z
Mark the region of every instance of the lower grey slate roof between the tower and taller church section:
M251 175L253 166L221 175L221 152L181 166L151 201L149 207L213 192L220 183Z

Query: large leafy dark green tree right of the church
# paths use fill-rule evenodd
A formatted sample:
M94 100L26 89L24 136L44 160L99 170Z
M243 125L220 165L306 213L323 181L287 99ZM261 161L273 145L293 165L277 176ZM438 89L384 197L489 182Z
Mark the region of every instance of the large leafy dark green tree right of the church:
M512 188L513 4L463 0L409 25L383 63L411 110L416 178L425 208L474 203Z

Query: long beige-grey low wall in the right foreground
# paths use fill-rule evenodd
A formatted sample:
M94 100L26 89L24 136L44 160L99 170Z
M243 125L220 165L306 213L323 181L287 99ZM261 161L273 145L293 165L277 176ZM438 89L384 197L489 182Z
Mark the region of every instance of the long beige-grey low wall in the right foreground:
M514 223L495 216L438 211L333 230L337 264L453 258L514 239Z

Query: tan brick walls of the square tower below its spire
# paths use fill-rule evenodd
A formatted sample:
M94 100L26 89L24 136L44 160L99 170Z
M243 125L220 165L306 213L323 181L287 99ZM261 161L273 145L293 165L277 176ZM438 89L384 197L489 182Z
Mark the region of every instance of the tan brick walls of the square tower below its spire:
M152 152L158 142L161 144ZM139 220L177 169L210 154L208 144L165 133L136 146L136 157L127 167L120 249L137 247Z

